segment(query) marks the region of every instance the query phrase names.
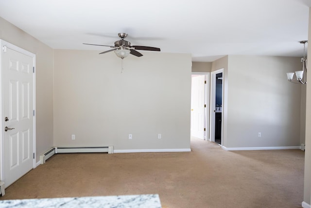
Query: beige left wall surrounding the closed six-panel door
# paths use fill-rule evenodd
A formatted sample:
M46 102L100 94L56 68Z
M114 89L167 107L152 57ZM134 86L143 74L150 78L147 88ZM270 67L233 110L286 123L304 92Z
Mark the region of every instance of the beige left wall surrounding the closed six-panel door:
M53 50L0 18L0 39L36 55L36 161L53 144Z

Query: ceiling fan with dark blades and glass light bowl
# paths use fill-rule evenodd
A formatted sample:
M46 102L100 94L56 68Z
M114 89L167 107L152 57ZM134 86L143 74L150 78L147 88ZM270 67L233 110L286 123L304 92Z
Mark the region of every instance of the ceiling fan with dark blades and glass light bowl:
M105 53L108 53L110 51L114 51L118 57L123 59L123 58L127 57L129 54L132 54L132 55L137 56L137 57L143 56L141 53L139 53L136 50L160 51L160 48L155 48L155 47L139 46L139 45L133 45L132 46L129 41L124 40L124 38L127 37L127 33L118 33L118 36L121 38L121 40L116 41L114 46L98 45L98 46L107 46L107 47L113 48L111 50L104 51L100 54L105 54ZM83 43L83 44L97 45L97 44L89 44L89 43Z

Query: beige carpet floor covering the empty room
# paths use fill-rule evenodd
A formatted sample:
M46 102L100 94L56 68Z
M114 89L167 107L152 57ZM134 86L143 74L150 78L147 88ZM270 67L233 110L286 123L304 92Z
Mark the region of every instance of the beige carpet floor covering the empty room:
M0 200L158 193L163 208L299 208L304 151L225 151L191 138L191 152L55 154Z

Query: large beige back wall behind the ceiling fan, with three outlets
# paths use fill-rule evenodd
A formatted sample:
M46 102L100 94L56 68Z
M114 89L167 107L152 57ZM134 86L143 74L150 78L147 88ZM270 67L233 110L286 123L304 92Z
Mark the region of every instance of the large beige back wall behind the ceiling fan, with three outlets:
M190 54L99 52L54 51L54 146L189 149Z

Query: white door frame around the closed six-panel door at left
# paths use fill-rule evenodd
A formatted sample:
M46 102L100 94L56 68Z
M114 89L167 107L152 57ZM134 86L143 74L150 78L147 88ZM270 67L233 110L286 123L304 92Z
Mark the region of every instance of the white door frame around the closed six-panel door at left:
M12 43L9 43L5 40L0 39L0 96L1 96L1 102L0 102L0 181L5 181L4 178L4 130L3 130L3 56L4 56L4 50L5 48L10 48L14 51L17 51L18 53L24 54L26 56L32 57L33 58L33 64L34 64L34 69L35 68L35 54L26 51L25 49L22 49L16 45L13 45ZM36 167L36 163L35 163L35 158L36 158L36 132L35 132L35 124L36 124L36 113L35 113L35 70L33 73L33 109L34 109L34 121L33 121L33 141L34 141L34 158L33 158L33 168Z

